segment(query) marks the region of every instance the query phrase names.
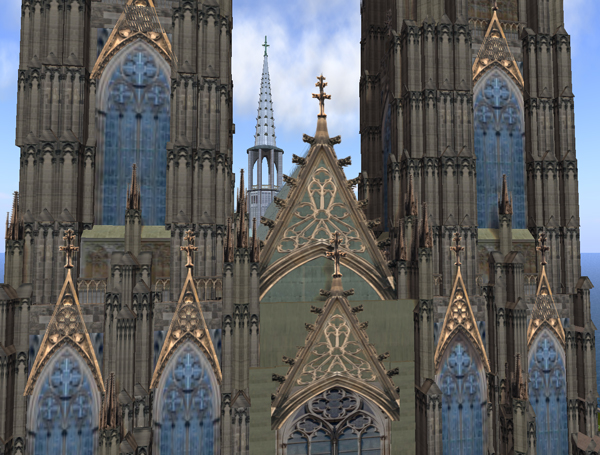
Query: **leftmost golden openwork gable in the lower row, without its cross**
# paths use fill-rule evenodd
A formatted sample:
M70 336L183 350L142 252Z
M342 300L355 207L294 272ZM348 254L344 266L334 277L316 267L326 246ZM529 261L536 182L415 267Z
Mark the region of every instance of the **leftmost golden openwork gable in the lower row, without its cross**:
M40 349L35 357L33 368L25 386L25 395L31 395L46 364L66 344L75 348L75 351L90 368L98 390L104 393L102 372L96 359L92 340L83 321L70 268L67 268L67 278L58 296L54 313L52 313Z

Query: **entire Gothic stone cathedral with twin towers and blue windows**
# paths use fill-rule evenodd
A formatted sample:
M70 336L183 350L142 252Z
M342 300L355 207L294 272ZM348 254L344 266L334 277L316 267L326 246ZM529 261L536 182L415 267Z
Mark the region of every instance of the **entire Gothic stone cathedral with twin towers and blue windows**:
M0 454L599 453L563 0L360 14L236 194L232 0L23 0Z

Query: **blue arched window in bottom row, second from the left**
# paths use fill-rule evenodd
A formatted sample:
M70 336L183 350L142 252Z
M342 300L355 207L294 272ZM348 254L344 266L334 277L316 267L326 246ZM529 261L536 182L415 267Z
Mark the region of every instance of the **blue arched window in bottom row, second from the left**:
M218 453L220 389L200 348L188 341L161 375L154 401L154 444L159 454Z

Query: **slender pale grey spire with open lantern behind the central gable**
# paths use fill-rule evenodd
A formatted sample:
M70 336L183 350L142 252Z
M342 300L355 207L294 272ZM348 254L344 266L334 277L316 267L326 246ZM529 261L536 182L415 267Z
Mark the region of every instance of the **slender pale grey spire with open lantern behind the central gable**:
M269 77L269 56L265 36L256 135L254 147L248 149L248 199L250 219L260 220L283 185L283 150L277 148L275 137L275 115ZM265 175L265 170L266 175Z

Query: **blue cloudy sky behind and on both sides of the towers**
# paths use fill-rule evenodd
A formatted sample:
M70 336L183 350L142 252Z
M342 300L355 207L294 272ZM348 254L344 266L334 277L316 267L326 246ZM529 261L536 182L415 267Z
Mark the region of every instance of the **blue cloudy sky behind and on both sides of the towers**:
M2 0L0 15L0 214L10 210L18 189L19 150L14 145L21 0ZM268 35L277 146L285 151L284 173L292 154L302 155L302 134L314 134L318 103L316 76L323 73L332 100L327 103L329 133L342 136L340 158L351 156L348 178L360 172L359 96L360 0L233 0L234 172L247 167L254 145L256 109ZM600 91L600 15L597 0L565 0L565 28L571 34L581 251L600 253L597 210L600 153L596 142ZM0 251L4 249L0 242Z

